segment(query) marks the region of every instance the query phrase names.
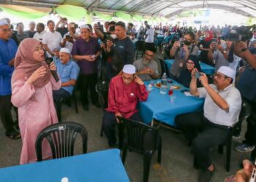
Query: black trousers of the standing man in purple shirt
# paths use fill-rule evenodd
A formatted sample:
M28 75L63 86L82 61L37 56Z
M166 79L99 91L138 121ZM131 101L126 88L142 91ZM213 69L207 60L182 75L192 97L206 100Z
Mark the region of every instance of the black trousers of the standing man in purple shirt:
M80 78L80 96L83 105L89 105L88 90L90 90L91 103L98 102L98 95L95 86L98 82L98 75L95 74L82 74Z

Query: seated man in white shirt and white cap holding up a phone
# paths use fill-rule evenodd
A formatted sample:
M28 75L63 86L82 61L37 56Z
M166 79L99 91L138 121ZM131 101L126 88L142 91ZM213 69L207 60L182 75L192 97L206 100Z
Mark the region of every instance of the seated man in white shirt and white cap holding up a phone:
M206 98L203 113L181 114L176 117L176 124L192 141L195 167L202 169L199 181L210 181L215 170L210 149L224 143L230 129L238 122L241 95L233 87L236 71L232 68L221 66L214 74L214 84L208 84L206 74L200 73L201 88L197 88L196 72L196 69L192 70L190 93Z

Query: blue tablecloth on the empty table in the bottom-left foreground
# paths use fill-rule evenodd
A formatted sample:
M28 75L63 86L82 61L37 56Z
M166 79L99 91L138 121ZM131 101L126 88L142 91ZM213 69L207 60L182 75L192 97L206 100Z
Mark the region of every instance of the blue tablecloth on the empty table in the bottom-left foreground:
M0 169L2 182L61 182L64 177L69 182L129 181L118 149Z

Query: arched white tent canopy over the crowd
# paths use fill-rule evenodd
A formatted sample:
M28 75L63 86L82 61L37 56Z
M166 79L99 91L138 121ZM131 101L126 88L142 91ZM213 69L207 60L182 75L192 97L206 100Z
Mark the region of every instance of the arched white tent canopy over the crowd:
M256 17L255 0L0 0L0 4L37 7L58 7L59 5L70 4L85 7L88 11L97 11L98 14L105 11L118 12L119 15L125 16L124 12L128 12L130 15L150 15L151 17L172 17L187 10L212 8Z

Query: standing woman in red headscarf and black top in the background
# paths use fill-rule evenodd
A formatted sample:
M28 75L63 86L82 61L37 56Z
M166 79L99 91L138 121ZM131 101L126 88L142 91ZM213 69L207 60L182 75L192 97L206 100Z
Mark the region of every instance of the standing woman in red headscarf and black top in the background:
M205 39L200 41L198 44L199 47L200 45L202 45L200 47L201 52L200 52L199 60L208 65L213 65L213 63L211 63L211 61L208 60L208 51L209 51L212 39L214 39L214 33L212 33L211 31L206 31Z

